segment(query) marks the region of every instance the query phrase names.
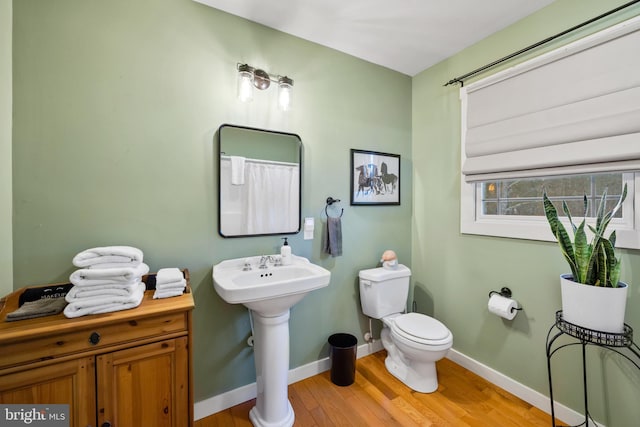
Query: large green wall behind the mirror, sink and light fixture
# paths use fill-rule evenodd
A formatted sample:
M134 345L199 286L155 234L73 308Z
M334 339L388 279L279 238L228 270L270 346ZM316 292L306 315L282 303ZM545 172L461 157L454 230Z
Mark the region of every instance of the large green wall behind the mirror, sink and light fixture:
M246 310L215 293L212 266L275 253L278 236L223 239L214 133L223 123L300 135L303 216L293 252L332 273L291 313L291 367L363 342L357 273L411 253L411 78L191 0L20 0L13 4L14 287L67 280L86 248L129 244L151 270L192 273L195 399L255 381ZM236 63L295 81L236 99ZM349 206L351 148L402 156L400 206ZM344 207L344 256L320 253L328 196ZM6 223L0 218L0 222Z

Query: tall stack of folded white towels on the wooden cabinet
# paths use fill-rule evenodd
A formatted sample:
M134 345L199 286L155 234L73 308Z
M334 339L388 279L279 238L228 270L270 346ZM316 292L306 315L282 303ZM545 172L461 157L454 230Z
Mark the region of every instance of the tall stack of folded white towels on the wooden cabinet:
M135 308L144 297L142 276L149 266L142 262L140 249L131 246L107 246L87 249L73 258L80 267L71 274L73 287L66 295L67 317L110 313Z

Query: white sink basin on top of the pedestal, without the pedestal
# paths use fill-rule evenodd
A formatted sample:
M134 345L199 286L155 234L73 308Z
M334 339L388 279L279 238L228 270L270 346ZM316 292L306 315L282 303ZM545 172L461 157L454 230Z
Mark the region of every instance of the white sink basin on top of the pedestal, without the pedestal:
M278 256L272 255L272 258ZM260 256L222 261L213 267L216 292L230 304L244 304L263 314L281 313L315 289L329 284L331 272L292 255L290 265L259 268ZM251 270L243 271L246 263Z

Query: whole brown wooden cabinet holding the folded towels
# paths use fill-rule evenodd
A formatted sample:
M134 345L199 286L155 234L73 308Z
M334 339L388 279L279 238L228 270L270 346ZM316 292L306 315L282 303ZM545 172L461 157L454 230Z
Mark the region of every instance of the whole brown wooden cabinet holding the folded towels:
M0 302L0 403L69 404L77 427L193 425L190 286L131 310L4 322L20 293Z

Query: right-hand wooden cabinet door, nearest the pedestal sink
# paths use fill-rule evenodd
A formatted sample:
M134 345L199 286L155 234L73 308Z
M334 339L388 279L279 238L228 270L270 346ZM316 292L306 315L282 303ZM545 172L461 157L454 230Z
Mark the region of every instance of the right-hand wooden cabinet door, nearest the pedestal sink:
M188 361L186 337L98 356L98 425L188 425Z

